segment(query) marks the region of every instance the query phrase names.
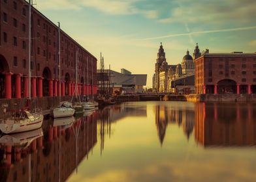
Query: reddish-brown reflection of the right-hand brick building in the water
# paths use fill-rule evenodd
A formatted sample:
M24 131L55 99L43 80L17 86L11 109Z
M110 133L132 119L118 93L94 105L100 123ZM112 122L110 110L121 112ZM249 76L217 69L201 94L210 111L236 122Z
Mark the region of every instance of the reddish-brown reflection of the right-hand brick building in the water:
M195 139L203 146L256 144L256 109L249 104L195 104Z

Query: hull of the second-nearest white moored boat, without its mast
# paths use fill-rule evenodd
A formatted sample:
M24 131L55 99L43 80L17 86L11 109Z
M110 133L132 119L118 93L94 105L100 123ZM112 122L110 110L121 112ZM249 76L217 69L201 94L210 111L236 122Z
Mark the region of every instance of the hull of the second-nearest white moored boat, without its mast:
M67 101L63 101L59 103L59 107L52 109L52 116L54 118L63 118L74 115L74 108L72 107L72 103Z

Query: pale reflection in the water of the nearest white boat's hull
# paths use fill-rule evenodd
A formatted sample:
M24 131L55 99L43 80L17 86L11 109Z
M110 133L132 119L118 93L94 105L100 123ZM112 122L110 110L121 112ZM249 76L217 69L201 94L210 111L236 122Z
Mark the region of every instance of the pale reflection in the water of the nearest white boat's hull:
M42 128L27 131L23 133L16 133L13 135L3 135L0 138L0 143L8 146L29 146L33 140L42 136Z

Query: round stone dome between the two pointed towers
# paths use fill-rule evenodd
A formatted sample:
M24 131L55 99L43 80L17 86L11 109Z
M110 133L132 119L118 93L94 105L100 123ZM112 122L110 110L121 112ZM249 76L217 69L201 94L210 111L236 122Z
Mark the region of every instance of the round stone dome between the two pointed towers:
M195 64L191 55L189 55L189 51L187 50L187 54L182 59L182 74L183 75L191 75L195 74Z

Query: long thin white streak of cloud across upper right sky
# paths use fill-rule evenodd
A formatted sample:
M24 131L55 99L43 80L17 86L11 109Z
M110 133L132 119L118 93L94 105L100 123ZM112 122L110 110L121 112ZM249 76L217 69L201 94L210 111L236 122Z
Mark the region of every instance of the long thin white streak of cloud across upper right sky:
M232 29L218 29L218 30L210 30L210 31L195 31L195 32L186 32L186 33L179 33L179 34L167 34L167 35L163 35L163 36L155 36L155 37L150 37L150 38L144 38L143 40L154 40L154 39L169 38L169 37L175 37L175 36L210 34L210 33L216 33L216 32L247 31L247 30L253 30L253 29L256 29L256 26L237 27L237 28L232 28Z

